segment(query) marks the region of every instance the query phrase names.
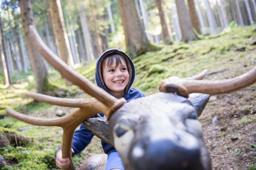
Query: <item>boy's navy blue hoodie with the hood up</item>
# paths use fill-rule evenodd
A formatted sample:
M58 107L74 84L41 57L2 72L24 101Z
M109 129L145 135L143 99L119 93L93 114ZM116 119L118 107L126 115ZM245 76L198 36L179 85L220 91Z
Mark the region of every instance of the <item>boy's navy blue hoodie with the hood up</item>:
M101 65L102 65L102 59L106 57L107 55L111 53L118 53L122 55L126 59L128 73L129 73L129 83L125 89L125 95L123 96L127 102L129 102L131 99L139 98L139 97L145 97L145 94L143 94L140 90L131 88L131 85L135 78L135 67L133 65L132 60L126 53L123 51L120 51L119 49L109 49L102 53L102 55L98 58L96 69L95 69L95 79L97 85L107 91L109 90L106 88L103 79L102 79L102 73L101 73ZM92 117L104 117L105 115L103 113L95 114ZM90 132L90 130L87 130L83 123L80 125L80 129L75 131L74 138L73 138L73 146L74 154L80 153L85 147L91 142L91 139L93 138L94 134ZM105 142L102 141L102 148L104 150L105 154L110 154L111 152L115 151L114 146L111 146Z

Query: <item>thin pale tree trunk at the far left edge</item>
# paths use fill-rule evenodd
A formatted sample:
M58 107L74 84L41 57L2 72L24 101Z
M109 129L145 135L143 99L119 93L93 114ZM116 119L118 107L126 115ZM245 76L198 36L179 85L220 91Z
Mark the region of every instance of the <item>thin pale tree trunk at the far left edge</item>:
M12 84L12 81L10 79L10 74L9 74L9 70L7 67L7 63L6 63L6 52L5 52L5 41L3 40L3 31L2 31L2 21L1 21L1 16L0 16L0 30L1 30L1 35L2 35L2 40L0 41L0 58L1 58L1 66L2 66L2 71L3 71L3 77L4 77L4 85L5 86L9 86L10 84ZM3 43L3 45L1 46L1 42ZM3 54L1 52L1 47L3 47Z

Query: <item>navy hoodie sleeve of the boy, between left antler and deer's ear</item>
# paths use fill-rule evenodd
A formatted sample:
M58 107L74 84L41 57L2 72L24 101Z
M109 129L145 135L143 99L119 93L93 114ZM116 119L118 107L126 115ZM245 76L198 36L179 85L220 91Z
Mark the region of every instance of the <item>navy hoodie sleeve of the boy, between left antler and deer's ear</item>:
M75 131L73 138L72 148L74 149L74 154L79 154L83 149L85 149L93 137L94 134L90 130L86 129L83 123L81 123L80 129Z

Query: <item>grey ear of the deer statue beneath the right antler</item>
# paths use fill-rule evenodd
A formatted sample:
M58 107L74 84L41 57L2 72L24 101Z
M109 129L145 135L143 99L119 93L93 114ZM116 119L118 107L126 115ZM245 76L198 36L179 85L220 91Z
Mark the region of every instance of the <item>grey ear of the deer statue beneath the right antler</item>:
M205 105L208 103L208 100L211 95L203 94L203 93L191 93L188 97L188 100L195 107L197 112L197 117L201 115L203 110L205 109Z

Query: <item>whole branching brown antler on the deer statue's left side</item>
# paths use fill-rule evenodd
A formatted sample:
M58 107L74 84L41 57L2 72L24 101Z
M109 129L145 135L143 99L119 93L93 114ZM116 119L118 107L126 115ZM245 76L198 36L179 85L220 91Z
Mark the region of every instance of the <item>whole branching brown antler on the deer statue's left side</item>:
M117 109L119 109L119 107L126 103L126 100L124 98L117 99L116 97L111 96L103 89L95 86L91 81L88 81L83 75L68 67L65 62L63 62L51 51L51 49L49 49L45 45L33 25L29 26L29 31L35 48L41 53L41 55L66 79L80 87L83 91L85 91L85 93L95 98L59 98L27 92L27 96L41 102L68 107L79 107L79 109L77 109L73 113L68 114L67 116L56 119L42 119L33 116L27 116L22 113L18 113L10 108L8 108L6 111L18 120L25 121L30 124L61 127L63 129L62 155L63 158L68 157L70 160L70 165L67 170L75 170L72 163L71 147L73 141L73 134L77 126L81 124L81 122L85 121L87 118L100 112L106 114L109 119L112 113L114 113Z

